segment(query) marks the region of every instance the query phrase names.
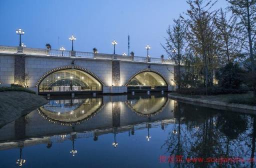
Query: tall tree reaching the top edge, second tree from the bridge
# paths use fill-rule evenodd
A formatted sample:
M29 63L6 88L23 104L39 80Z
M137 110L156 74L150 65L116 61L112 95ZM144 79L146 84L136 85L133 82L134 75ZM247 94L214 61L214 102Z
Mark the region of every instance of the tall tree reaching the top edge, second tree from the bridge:
M212 63L214 55L213 48L213 18L215 11L210 11L216 1L213 0L187 0L190 7L187 10L188 19L186 19L189 30L186 33L189 45L193 49L195 56L200 56L204 65L204 83L206 94L208 94L209 84L209 63ZM211 32L210 32L211 31ZM212 56L212 57L210 57Z

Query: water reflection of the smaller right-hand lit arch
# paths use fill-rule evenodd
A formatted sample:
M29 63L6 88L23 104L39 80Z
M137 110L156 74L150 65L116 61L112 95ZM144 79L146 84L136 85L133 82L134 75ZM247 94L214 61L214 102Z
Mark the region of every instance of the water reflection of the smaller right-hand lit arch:
M127 106L140 116L155 116L166 106L168 98L166 96L134 96L126 101Z

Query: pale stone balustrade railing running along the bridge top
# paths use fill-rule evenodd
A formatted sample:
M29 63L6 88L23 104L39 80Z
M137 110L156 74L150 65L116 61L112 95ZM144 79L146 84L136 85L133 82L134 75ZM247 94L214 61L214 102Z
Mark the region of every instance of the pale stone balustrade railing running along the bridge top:
M80 57L80 58L91 58L91 59L117 59L125 61L136 61L136 62L152 62L152 63L164 63L164 64L175 64L173 61L163 58L154 57L142 57L142 56L124 56L118 54L105 54L105 53L93 53L93 52L82 52L82 51L69 51L69 50L58 50L58 49L42 49L42 48L28 48L28 47L16 47L16 46L1 46L0 53L24 53L31 55L47 55L47 56L59 56L59 57Z

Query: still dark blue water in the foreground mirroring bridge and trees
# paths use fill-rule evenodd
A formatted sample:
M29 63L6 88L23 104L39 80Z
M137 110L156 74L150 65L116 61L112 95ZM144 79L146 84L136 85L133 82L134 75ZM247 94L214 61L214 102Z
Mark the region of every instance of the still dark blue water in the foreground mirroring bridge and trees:
M0 167L254 167L256 118L166 94L51 97L0 128Z

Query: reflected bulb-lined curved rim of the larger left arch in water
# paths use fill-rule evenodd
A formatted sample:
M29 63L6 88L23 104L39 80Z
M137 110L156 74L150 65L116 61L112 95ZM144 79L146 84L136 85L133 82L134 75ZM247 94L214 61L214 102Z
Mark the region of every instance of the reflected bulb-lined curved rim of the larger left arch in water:
M100 107L98 107L97 110L95 110L91 115L87 116L86 118L84 119L81 119L81 120L78 120L78 121L75 121L75 122L64 122L64 121L60 121L60 120L57 120L57 119L52 119L50 117L48 117L46 114L44 114L42 112L42 110L39 108L37 108L37 111L38 111L38 114L41 115L42 118L46 119L47 121L51 122L51 123L57 123L57 124L60 124L60 125L65 125L65 126L72 126L72 125L78 125L82 122L85 122L89 119L91 119L93 116L95 116L103 107L105 106L105 103L102 103L100 105Z

